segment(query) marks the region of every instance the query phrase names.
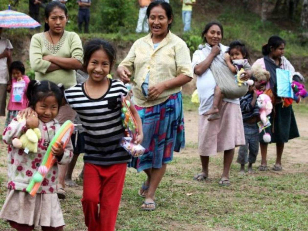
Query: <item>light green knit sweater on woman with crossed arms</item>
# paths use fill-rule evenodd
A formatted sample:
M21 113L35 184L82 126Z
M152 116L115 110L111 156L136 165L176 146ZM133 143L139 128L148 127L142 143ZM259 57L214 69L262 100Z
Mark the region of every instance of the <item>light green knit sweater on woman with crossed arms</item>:
M45 55L75 58L82 62L83 48L78 34L64 31L59 42L53 45L46 39L44 33L38 33L32 36L30 43L30 64L35 71L36 80L63 83L65 89L74 86L76 84L75 70L60 69L46 72L51 62L43 60Z

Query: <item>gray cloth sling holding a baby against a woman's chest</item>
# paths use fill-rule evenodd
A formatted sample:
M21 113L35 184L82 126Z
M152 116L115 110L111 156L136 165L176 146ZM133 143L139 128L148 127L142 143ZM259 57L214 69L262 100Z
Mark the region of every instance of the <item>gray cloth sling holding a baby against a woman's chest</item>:
M219 45L221 46L221 44ZM205 44L205 47L202 49L205 57L209 56L211 50L212 47L210 47L209 44ZM221 89L221 92L224 94L225 98L236 99L247 93L249 87L248 84L242 84L241 86L237 85L234 74L229 70L229 67L225 62L223 52L213 59L210 69L213 73L217 86Z

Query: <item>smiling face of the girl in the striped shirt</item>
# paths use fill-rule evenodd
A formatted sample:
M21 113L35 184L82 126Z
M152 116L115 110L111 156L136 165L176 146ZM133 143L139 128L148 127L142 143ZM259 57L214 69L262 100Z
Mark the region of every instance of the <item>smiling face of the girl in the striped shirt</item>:
M111 63L108 55L102 49L95 51L89 60L87 72L95 82L101 82L110 73Z

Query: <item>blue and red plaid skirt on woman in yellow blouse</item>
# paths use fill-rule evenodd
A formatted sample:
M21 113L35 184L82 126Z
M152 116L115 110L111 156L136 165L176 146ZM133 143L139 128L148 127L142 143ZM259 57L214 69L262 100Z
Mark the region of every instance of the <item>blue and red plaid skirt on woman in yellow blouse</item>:
M135 107L142 121L141 145L146 150L143 156L132 158L128 166L138 172L161 168L172 161L173 151L179 152L185 146L182 93L170 95L164 103L152 107Z

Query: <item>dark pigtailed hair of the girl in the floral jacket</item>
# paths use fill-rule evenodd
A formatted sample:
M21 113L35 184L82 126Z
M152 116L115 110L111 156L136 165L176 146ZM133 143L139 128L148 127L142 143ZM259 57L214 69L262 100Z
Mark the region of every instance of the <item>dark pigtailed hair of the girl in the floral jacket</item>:
M64 87L58 87L55 83L48 80L31 80L27 88L28 107L35 108L37 102L46 99L48 96L55 96L59 108L63 98Z

